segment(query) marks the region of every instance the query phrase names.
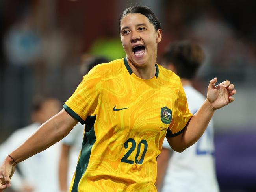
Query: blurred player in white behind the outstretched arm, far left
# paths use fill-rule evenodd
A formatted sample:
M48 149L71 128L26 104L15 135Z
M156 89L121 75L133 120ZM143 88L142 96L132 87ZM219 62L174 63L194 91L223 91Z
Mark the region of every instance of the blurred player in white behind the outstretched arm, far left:
M61 102L56 98L35 96L33 100L32 124L17 129L0 145L0 161L9 151L14 150L30 137L46 120L59 112ZM56 143L45 151L21 162L12 177L12 189L15 192L57 192L58 160L60 144Z

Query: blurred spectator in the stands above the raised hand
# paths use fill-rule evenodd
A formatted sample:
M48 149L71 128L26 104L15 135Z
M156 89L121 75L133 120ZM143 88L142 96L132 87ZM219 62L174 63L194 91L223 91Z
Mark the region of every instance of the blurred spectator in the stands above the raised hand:
M187 37L200 43L206 54L206 65L200 71L200 76L207 76L215 69L215 73L230 72L231 79L245 76L245 65L252 65L249 48L234 29L228 24L214 7L206 9L187 29ZM221 78L221 74L218 75ZM226 77L227 78L227 77ZM229 78L229 77L228 77Z

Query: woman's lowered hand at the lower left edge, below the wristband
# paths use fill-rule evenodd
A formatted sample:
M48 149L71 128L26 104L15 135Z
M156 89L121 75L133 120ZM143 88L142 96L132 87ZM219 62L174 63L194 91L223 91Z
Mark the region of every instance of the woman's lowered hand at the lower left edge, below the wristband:
M11 186L11 177L13 176L16 163L7 156L0 166L0 192Z

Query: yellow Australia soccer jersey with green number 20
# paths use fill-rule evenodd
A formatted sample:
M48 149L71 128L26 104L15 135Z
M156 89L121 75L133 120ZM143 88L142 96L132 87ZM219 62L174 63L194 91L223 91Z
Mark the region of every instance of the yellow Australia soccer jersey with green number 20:
M192 116L178 76L156 64L138 78L126 58L95 66L63 107L86 124L70 192L156 191L163 139Z

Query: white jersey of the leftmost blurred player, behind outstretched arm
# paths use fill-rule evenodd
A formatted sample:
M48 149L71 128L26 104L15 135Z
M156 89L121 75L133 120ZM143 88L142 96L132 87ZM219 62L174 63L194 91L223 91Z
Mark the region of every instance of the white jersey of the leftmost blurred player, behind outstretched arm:
M0 162L3 162L4 158L30 137L39 126L40 124L33 123L12 133L0 145ZM11 178L11 187L15 191L20 191L24 183L27 183L35 188L33 192L58 192L60 146L60 143L56 143L45 151L20 162L17 167L22 175L15 171Z

